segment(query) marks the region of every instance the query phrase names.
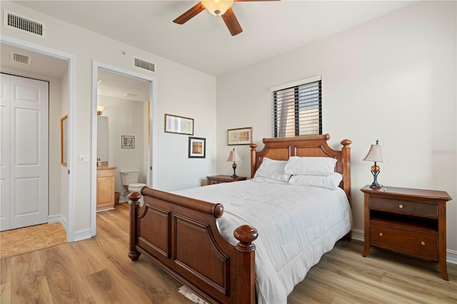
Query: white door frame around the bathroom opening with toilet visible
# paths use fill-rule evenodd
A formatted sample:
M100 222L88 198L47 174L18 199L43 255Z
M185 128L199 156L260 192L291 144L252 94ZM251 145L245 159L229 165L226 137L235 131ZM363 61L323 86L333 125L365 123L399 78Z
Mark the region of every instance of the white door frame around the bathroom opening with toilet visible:
M152 168L156 163L155 156L156 152L156 124L157 124L157 93L156 86L157 80L153 76L140 74L135 71L130 71L127 69L119 68L118 66L112 66L111 64L105 64L100 61L92 61L92 151L91 159L96 159L97 157L97 80L99 79L99 69L104 69L117 74L123 74L125 76L130 76L133 78L139 78L142 81L149 82L149 187L154 187L154 180L156 179L156 173ZM96 235L96 182L97 182L97 168L96 162L91 161L91 235Z

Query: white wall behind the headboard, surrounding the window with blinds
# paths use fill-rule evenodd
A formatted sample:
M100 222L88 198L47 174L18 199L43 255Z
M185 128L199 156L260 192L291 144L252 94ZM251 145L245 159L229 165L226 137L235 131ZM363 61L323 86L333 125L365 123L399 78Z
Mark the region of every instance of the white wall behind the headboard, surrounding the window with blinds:
M217 172L231 173L226 130L253 127L271 137L270 88L322 76L323 133L351 146L354 229L363 230L360 189L373 181L362 161L379 139L388 186L447 191L448 250L457 253L456 2L419 1L381 18L217 78ZM249 176L249 148L240 176Z

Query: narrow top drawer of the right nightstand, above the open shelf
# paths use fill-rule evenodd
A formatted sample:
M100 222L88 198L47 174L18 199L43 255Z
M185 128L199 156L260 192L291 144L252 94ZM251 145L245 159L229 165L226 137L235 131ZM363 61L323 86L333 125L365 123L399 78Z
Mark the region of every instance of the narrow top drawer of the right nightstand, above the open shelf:
M429 203L393 200L391 198L370 198L370 208L384 211L396 211L423 216L438 216L438 206Z

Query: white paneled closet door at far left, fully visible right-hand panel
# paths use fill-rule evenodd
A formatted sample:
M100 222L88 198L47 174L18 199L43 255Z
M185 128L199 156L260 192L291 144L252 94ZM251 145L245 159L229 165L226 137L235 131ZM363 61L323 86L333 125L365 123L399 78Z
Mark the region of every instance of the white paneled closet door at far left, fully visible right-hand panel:
M48 222L49 87L46 81L9 78L9 229L14 229Z

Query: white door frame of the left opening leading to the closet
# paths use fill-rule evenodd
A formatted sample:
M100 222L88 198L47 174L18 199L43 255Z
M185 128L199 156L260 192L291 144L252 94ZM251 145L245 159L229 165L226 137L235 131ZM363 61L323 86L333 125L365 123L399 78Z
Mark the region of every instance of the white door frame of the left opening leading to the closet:
M1 35L0 41L3 44L9 44L11 46L17 46L22 49L27 49L36 53L44 54L46 56L51 56L56 59L64 59L68 62L68 160L67 160L67 169L69 172L68 175L68 214L66 215L66 240L68 242L73 242L75 240L75 197L74 197L74 188L75 188L75 179L74 179L74 130L75 130L75 79L76 79L76 56L74 54L69 54L64 51L59 51L57 49L52 49L47 46L42 46L40 44L34 44L30 41L17 39L13 36ZM63 223L64 224L64 223Z

